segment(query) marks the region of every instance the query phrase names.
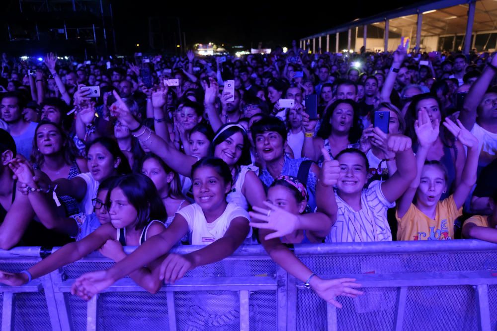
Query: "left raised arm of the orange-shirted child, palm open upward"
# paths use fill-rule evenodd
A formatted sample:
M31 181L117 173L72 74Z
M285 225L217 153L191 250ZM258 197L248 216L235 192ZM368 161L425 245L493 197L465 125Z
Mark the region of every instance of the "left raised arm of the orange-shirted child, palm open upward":
M417 120L414 122L414 130L416 132L417 140L419 143L416 160L413 164L416 165L415 177L409 184L406 192L399 199L397 204L397 215L402 218L406 212L409 210L411 203L413 203L414 196L416 194L417 187L419 186L419 181L421 179L421 172L424 167L424 161L428 155L428 150L431 145L438 138L440 124L438 120L435 121L434 126L431 124L426 110L422 109L418 112ZM398 160L397 164L398 164ZM383 187L382 187L383 190ZM385 191L383 191L385 192Z

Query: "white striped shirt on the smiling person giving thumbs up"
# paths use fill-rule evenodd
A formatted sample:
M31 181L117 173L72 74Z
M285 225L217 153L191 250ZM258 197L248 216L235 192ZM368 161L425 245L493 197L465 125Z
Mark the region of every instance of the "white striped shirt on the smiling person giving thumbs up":
M326 237L327 243L392 241L387 210L395 206L381 191L381 182L371 183L361 194L361 210L354 211L335 191L338 205L336 222Z

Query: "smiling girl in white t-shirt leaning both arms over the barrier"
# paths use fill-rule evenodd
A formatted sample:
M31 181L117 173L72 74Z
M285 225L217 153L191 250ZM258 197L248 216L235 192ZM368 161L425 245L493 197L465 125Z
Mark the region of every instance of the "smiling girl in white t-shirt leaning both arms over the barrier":
M248 213L235 203L226 202L232 177L228 165L218 158L204 158L192 167L195 203L176 213L172 224L151 238L123 261L110 269L84 274L72 292L89 300L118 279L168 253L185 234L193 245L204 248L186 255L169 254L163 261L159 278L174 283L186 271L220 261L251 236Z

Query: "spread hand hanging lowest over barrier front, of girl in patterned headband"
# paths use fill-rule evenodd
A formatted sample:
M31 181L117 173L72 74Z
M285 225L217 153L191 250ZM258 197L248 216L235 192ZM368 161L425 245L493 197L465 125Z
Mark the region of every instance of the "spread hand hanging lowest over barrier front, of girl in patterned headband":
M355 289L361 287L361 284L355 283L354 278L321 279L314 276L311 279L311 287L320 298L336 308L342 308L342 305L335 300L335 297L343 295L355 298L364 294L364 292Z

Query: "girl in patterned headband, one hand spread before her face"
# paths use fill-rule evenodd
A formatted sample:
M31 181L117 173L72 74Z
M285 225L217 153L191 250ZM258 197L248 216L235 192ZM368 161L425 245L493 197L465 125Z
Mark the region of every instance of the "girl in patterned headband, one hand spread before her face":
M340 303L335 301L335 296L355 297L362 294L361 291L353 289L360 287L354 283L355 279L322 279L284 245L310 243L312 237L311 241L307 238L309 232L316 233L317 237L325 237L330 232L331 222L326 214L316 212L303 217L307 198L304 184L293 176L281 175L267 191L265 208L254 207L255 211L249 212L252 220L260 221L250 222L250 225L260 229L262 245L274 262L303 281L305 287L312 287L325 301L341 308ZM315 322L319 324L319 321Z

